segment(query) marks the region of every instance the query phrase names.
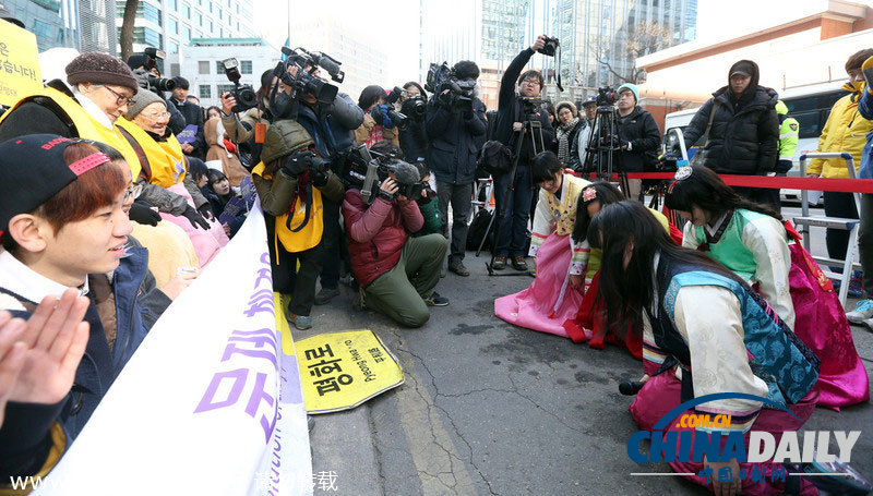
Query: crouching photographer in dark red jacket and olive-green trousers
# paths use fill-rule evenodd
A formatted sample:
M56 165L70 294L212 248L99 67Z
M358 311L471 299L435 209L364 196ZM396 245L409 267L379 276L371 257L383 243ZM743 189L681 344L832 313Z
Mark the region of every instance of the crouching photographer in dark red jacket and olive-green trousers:
M348 232L351 270L362 288L364 304L406 327L421 327L430 318L428 306L445 306L449 300L433 288L446 241L440 234L409 238L424 223L418 204L398 194L399 186L420 183L411 164L390 158L388 173L378 196L368 205L361 196L363 182L349 174L355 184L346 192L343 217ZM368 192L369 193L369 192Z

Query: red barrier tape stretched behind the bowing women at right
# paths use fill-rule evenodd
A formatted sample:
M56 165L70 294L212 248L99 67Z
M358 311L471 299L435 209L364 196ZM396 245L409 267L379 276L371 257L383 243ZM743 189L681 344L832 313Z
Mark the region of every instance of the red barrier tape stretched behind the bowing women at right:
M829 179L829 178L786 178L784 176L719 176L731 186L751 186L765 189L837 191L842 193L873 194L871 179ZM618 181L619 177L613 176ZM629 172L627 179L673 179L672 172Z

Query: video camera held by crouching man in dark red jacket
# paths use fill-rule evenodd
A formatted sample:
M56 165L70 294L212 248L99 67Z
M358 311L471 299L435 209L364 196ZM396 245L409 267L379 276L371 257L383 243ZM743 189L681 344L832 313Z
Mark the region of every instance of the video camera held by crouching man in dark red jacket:
M370 150L366 145L354 149L348 156L347 164L348 186L360 189L361 198L367 205L372 204L376 196L388 202L405 196L409 201L417 202L421 198L421 191L430 189L427 182L421 181L416 166ZM397 191L388 195L379 185L390 177L391 172L396 178Z

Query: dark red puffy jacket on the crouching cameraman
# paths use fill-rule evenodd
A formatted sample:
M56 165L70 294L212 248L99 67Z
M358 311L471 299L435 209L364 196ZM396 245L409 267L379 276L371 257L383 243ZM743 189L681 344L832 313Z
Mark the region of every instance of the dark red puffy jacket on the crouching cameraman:
M376 197L368 206L361 199L360 190L346 192L343 217L351 273L363 288L397 265L406 244L406 231L416 232L424 225L417 203Z

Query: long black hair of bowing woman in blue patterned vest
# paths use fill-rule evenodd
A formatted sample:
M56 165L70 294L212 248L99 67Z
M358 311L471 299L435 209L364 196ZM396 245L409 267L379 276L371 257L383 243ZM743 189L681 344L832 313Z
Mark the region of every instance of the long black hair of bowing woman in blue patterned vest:
M749 288L703 252L673 243L658 219L638 202L625 199L601 209L588 227L588 242L603 252L597 301L606 311L600 317L619 331L630 326L639 332L643 311L654 310L656 254L660 254L661 263L694 265ZM625 267L624 253L630 244L633 251Z

